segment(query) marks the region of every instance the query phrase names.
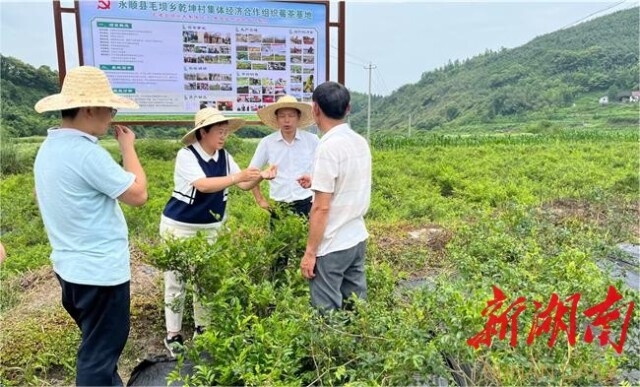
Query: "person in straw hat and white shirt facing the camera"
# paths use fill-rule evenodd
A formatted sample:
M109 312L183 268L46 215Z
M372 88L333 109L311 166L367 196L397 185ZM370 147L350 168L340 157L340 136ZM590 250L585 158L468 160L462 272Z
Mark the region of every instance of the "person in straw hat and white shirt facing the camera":
M298 128L313 124L311 106L287 95L258 110L258 116L276 132L260 140L249 165L256 168L276 165L278 176L269 182L271 199L295 214L307 217L311 209L312 192L302 188L298 179L311 172L313 156L320 140L315 134ZM253 189L253 195L260 207L270 210L259 185ZM273 224L276 212L271 211L271 217ZM286 265L286 257L278 258L274 274L284 270Z

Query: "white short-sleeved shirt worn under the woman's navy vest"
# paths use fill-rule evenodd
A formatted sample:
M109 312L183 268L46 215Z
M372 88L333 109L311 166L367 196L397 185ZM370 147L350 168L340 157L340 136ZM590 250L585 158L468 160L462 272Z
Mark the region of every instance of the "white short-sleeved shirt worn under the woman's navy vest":
M219 151L216 151L216 153L214 153L213 155L208 154L202 148L200 143L197 141L193 143L193 148L196 150L196 152L198 152L198 155L200 155L200 157L202 157L204 161L209 161L213 159L213 161L217 162L218 158L220 157ZM226 149L225 149L225 153L228 156L227 167L229 168L229 173L233 174L233 173L240 172L241 171L240 167L233 159L233 156L231 156L231 153L229 153L229 151L227 151ZM196 180L200 180L205 177L207 177L207 175L205 175L204 171L202 170L202 167L198 163L198 159L193 154L193 152L191 152L191 150L189 150L188 148L180 149L178 151L178 156L176 157L176 166L173 172L173 184L175 187L173 189L172 196L185 203L189 203L189 200L190 200L189 198L193 197L192 191L195 190L193 183ZM227 192L226 192L227 190L228 189L225 189L225 200L227 197ZM179 192L180 194L176 193L176 191ZM161 222L164 223L164 225L171 226L171 227L178 227L178 228L186 227L190 229L211 228L214 226L219 227L220 224L222 223L222 222L217 222L213 224L187 224L183 222L178 222L171 218L167 218L164 215L162 215L161 217Z

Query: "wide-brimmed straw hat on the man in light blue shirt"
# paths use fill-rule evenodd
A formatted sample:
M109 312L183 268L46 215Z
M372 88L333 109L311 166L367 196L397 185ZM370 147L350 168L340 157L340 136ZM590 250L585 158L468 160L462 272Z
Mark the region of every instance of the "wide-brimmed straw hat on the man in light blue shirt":
M134 101L116 95L104 71L80 66L67 73L59 94L42 98L35 105L38 113L79 107L111 107L137 109Z

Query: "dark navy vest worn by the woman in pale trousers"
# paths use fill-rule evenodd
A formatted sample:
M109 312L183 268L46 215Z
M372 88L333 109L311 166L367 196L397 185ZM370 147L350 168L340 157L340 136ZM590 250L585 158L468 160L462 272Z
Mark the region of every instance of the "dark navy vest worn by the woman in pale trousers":
M204 161L193 145L187 147L198 159L200 168L207 177L227 176L229 172L227 154L224 149L218 151L218 161ZM192 187L189 195L184 192L173 191L174 194L188 199L189 203L171 197L164 207L163 214L167 218L183 223L207 224L222 220L227 206L226 190L203 193Z

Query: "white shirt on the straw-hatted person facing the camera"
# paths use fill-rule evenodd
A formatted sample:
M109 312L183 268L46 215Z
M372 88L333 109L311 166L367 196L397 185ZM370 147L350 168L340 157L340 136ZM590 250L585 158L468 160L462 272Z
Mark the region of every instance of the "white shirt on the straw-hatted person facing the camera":
M249 166L259 169L267 164L278 166L276 178L269 181L269 196L273 200L291 203L313 195L310 189L300 187L297 180L302 175L311 174L319 142L318 136L303 130L296 130L291 143L282 137L279 130L260 140Z

